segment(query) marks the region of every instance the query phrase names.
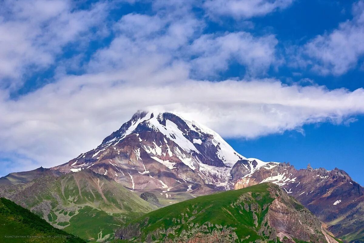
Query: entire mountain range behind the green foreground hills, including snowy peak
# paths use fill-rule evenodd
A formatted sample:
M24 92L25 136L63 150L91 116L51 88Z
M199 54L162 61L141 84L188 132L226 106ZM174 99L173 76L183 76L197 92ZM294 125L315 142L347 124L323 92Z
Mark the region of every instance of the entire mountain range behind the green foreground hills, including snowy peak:
M285 163L245 158L216 132L168 112L137 112L97 148L65 164L0 178L0 193L32 211L38 210L57 227L74 232L72 220L80 215L70 212L85 207L90 211L84 215L93 215L91 211L98 209L118 222L113 224L121 225L155 210L155 205L264 182L274 183L296 198L337 238L364 240L364 189L344 171L310 166L296 170ZM29 188L44 196L28 196ZM154 194L158 203L140 199L138 195L143 192ZM51 214L62 209L68 215L63 222L69 224ZM124 214L126 220L114 213ZM107 226L83 237L108 239L115 227L107 231L107 238L105 230L102 237L99 235L103 227Z

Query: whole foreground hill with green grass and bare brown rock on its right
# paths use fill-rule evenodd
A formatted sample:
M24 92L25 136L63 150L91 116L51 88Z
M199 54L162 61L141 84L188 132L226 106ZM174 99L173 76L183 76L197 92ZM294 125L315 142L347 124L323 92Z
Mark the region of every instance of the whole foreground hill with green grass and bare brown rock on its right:
M320 221L273 183L176 203L125 224L129 242L337 242Z

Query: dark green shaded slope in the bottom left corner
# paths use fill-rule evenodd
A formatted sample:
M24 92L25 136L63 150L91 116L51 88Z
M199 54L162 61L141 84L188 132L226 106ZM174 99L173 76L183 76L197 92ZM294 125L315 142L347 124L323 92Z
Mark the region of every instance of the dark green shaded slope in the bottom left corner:
M0 232L4 233L0 234L0 242L85 243L5 198L0 198Z

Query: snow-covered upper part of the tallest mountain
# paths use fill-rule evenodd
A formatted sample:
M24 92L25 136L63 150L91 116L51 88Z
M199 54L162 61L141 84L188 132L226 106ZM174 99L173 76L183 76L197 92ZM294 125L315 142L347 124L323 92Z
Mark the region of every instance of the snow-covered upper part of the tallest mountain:
M126 136L143 131L160 132L189 153L201 154L201 147L205 146L203 143L209 140L217 148L218 159L226 166L232 167L238 160L245 159L213 130L168 112L135 113L132 119L108 136L99 147L114 146Z

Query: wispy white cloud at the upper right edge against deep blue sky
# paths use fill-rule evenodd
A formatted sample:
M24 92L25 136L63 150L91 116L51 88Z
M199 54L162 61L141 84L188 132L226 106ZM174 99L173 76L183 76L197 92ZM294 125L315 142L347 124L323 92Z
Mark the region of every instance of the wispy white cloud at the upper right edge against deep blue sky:
M353 4L353 19L332 32L318 35L300 48L298 65L321 75L342 75L364 56L364 1Z

